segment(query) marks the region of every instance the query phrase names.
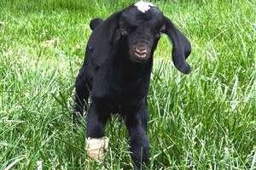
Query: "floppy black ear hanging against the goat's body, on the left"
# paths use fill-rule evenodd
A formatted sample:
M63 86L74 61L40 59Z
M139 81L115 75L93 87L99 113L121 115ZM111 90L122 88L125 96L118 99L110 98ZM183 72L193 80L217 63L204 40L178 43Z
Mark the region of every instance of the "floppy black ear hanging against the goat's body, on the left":
M96 27L94 27L90 35L87 47L90 49L90 53L88 54L92 56L87 57L92 59L95 66L102 65L102 63L114 53L114 42L119 37L118 26L121 13L122 11L112 14L107 20L91 21L91 24L96 24Z

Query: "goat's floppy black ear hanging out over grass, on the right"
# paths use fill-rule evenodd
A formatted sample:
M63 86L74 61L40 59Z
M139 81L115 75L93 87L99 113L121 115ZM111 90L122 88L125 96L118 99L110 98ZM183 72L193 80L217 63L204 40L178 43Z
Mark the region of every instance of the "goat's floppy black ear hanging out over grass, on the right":
M191 45L189 40L183 36L170 19L165 17L165 29L164 33L172 40L172 60L178 71L184 74L189 74L191 71L190 65L186 62L186 59L191 53Z

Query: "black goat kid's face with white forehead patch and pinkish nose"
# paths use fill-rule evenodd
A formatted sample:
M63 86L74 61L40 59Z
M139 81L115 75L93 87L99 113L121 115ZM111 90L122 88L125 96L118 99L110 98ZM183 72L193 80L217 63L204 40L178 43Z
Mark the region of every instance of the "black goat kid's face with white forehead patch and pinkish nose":
M130 59L135 62L144 62L152 57L160 33L165 29L164 15L149 4L144 4L146 8L137 4L126 8L119 20L120 35L128 45Z

